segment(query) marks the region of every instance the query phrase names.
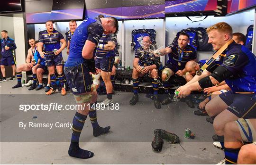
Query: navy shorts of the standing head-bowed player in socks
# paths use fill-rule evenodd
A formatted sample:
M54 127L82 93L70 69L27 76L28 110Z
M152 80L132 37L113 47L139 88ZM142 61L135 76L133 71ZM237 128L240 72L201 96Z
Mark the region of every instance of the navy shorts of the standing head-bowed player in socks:
M78 66L64 67L64 74L74 95L91 91L92 77L86 62Z

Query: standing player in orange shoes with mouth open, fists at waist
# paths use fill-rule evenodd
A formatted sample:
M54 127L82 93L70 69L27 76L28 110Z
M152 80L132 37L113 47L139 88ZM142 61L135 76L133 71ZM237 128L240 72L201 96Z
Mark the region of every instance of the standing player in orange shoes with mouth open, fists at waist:
M60 45L60 42L62 45ZM45 52L42 47L45 45ZM64 88L64 74L63 74L63 58L61 51L66 47L66 41L63 35L56 31L53 26L53 21L46 22L46 30L39 32L39 43L37 46L41 58L46 58L46 66L51 79L52 88L46 92L46 95L55 93L58 85L56 83L55 66L58 74L58 79L61 87L61 94L66 95Z

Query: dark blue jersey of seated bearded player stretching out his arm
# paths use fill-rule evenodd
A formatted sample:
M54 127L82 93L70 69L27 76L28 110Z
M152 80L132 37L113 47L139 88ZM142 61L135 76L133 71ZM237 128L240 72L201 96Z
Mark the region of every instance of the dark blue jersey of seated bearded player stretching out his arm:
M179 49L179 46L176 43L170 44L167 47L172 49L172 52L168 54L169 60L167 63L177 66L180 70L185 68L188 61L197 58L196 50L190 45L187 45L183 50ZM182 52L183 58L181 60L181 66L178 66L179 55Z

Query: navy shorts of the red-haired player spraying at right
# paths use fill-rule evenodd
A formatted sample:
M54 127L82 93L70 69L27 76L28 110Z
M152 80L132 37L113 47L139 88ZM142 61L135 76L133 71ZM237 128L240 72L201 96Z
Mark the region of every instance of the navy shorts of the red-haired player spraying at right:
M227 91L219 95L229 107L227 108L238 118L256 118L256 94L242 94Z

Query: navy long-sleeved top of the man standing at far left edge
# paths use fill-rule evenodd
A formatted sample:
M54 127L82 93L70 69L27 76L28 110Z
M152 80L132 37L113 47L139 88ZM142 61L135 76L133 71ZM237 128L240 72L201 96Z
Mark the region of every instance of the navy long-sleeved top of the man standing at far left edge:
M6 50L5 47L8 46L9 50ZM14 56L14 50L16 49L16 44L14 39L9 36L6 39L1 39L1 55L2 57Z

